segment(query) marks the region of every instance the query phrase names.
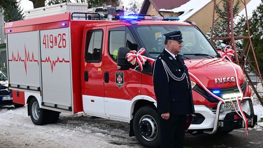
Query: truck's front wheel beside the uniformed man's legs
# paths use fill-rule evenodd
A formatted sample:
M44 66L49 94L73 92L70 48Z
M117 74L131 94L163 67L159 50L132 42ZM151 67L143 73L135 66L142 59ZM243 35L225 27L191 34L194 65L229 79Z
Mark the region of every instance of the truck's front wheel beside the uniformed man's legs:
M133 131L139 143L147 148L160 145L160 122L157 112L150 106L136 111L133 118Z

